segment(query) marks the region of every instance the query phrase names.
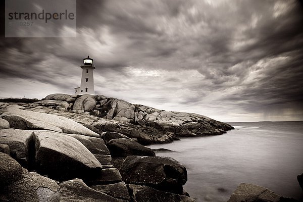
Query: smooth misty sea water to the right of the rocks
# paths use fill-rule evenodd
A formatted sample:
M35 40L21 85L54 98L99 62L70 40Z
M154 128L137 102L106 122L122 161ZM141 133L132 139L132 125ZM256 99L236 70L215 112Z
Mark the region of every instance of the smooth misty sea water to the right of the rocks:
M241 182L267 187L303 201L296 176L303 173L303 122L230 123L235 130L208 137L150 145L182 163L184 188L200 201L227 201Z

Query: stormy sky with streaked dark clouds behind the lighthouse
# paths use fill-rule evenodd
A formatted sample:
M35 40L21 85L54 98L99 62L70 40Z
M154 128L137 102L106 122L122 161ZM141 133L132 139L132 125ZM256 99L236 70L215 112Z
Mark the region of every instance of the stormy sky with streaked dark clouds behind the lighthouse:
M76 38L2 30L0 97L74 94L89 55L96 94L225 122L303 120L299 1L77 1L76 17Z

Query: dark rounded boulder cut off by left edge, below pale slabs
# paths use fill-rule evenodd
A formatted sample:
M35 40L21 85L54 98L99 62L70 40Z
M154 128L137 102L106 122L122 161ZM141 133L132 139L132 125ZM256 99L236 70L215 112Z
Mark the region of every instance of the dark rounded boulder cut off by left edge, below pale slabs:
M16 160L0 153L0 187L18 180L22 173L23 169Z

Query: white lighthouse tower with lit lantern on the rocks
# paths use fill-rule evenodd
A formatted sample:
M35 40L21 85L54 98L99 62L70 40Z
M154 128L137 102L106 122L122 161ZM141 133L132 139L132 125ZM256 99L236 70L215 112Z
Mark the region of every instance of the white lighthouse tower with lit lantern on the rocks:
M93 70L95 67L92 65L93 60L87 56L83 59L82 77L80 87L75 88L75 95L92 94L94 95L93 86Z

